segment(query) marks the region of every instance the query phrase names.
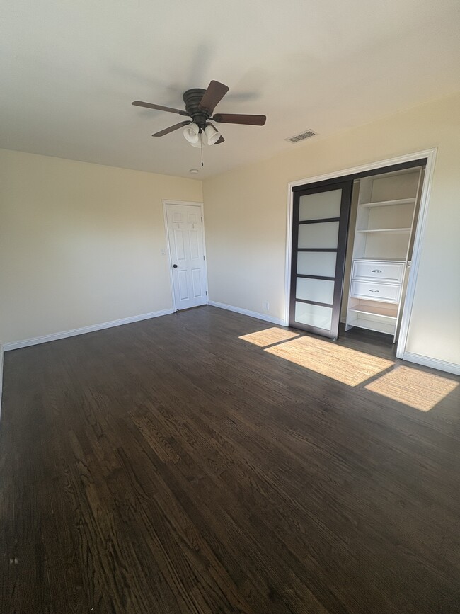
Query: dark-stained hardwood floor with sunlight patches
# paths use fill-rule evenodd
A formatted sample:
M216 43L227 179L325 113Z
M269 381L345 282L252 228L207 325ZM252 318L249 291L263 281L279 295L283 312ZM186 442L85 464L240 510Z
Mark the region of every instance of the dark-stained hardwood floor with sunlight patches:
M6 353L1 613L459 613L458 378L394 362L213 307Z

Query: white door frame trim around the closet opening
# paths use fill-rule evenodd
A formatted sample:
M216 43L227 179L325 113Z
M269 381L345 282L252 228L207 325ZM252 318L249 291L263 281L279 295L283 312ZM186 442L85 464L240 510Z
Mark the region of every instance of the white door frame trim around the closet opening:
M435 173L437 147L424 149L421 152L406 154L394 158L369 162L361 166L354 166L348 169L341 169L333 173L326 173L314 177L307 177L297 181L290 181L287 184L287 232L286 232L286 265L284 270L284 326L289 326L289 299L290 299L290 281L291 281L291 242L292 242L292 207L293 193L292 188L302 186L309 183L319 181L328 181L338 177L346 177L347 175L355 175L365 173L366 171L375 171L385 166L394 166L396 164L405 164L418 159L426 158L425 178L422 185L422 193L420 197L420 210L418 212L417 225L415 227L415 238L413 244L412 264L409 269L408 285L406 289L406 300L404 301L403 316L401 318L401 328L399 331L398 345L396 346L396 358L405 358L406 343L408 339L408 331L410 326L410 317L412 316L413 301L415 296L415 285L417 283L418 268L420 264L420 256L422 251L422 241L425 234L425 226L427 221L428 205L430 203L430 193Z

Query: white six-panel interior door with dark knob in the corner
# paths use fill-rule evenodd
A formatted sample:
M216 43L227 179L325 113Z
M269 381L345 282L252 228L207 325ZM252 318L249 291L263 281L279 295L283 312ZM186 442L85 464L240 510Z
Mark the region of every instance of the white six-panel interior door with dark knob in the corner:
M201 205L166 203L171 279L176 309L207 304Z

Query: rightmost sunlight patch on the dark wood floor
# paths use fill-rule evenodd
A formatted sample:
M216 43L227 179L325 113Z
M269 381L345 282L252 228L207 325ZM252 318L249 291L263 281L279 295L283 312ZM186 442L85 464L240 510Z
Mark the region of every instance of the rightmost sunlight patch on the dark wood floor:
M364 387L420 411L430 411L458 386L447 377L401 366Z

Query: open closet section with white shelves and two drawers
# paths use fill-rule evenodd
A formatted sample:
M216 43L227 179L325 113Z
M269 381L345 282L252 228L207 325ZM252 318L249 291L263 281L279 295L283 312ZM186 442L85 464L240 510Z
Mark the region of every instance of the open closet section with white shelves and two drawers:
M353 182L341 321L398 339L425 164Z

